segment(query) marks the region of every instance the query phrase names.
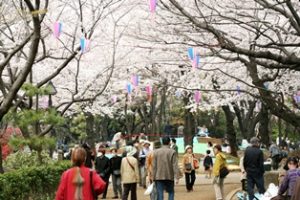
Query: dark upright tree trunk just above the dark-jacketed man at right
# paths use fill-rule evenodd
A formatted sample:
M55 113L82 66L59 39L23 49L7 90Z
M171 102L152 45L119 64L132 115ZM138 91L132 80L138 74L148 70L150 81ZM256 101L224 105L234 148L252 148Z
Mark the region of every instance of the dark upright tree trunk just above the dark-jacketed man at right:
M269 130L269 111L266 105L262 105L261 107L261 116L259 121L259 136L261 142L266 145L266 147L270 146L270 130Z

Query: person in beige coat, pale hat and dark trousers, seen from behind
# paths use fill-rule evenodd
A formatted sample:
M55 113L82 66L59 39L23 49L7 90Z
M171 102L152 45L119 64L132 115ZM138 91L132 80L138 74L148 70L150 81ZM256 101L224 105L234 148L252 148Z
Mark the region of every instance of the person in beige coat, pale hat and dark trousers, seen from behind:
M123 183L122 200L127 200L129 192L131 193L131 200L136 200L136 185L139 182L139 166L138 160L134 157L136 148L127 146L127 156L122 159L121 163L121 180Z

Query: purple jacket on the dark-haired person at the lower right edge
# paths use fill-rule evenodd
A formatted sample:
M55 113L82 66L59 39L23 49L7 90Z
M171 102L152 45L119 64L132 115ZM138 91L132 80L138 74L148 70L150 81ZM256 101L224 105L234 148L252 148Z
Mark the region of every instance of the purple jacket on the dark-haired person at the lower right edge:
M286 191L288 196L292 196L297 178L300 176L298 169L288 170L282 184L280 185L278 194L284 194Z

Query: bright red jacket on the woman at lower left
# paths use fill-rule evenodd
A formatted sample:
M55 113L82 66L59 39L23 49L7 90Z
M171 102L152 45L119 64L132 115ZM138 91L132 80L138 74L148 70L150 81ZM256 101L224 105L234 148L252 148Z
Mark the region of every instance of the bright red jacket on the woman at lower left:
M72 181L75 175L76 168L71 168L65 171L61 177L60 184L58 186L55 200L74 200L74 194L76 187ZM93 172L93 185L97 195L101 194L105 189L105 182L98 176L96 171ZM90 184L90 169L84 166L80 167L80 174L84 179L82 188L83 200L93 200L92 188Z

